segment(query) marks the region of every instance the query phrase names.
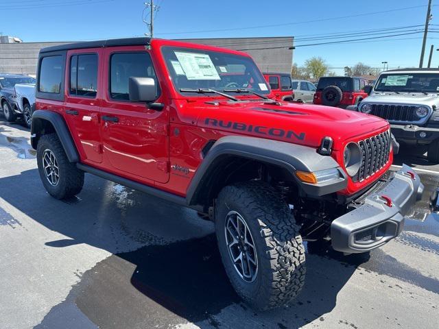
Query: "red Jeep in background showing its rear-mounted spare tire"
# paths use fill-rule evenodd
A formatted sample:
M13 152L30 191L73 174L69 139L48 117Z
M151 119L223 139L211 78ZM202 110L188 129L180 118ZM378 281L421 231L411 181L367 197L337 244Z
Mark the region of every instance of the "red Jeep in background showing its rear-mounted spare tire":
M364 92L368 84L368 80L360 77L320 77L313 103L338 108L358 105L368 97Z

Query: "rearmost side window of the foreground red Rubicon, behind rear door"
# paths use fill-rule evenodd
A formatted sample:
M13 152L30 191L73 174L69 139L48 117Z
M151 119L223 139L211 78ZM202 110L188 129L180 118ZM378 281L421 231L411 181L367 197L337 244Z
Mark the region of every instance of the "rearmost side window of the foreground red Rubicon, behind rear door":
M49 56L41 60L38 91L43 93L60 94L63 76L62 56Z

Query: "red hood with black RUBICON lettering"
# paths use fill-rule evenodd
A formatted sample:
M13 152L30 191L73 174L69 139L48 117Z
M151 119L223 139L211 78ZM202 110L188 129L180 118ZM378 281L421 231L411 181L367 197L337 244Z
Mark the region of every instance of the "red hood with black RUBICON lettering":
M280 104L224 101L193 106L202 106L198 116L201 127L310 147L318 147L322 138L329 136L334 149L339 149L348 139L388 127L387 121L360 112L305 103Z

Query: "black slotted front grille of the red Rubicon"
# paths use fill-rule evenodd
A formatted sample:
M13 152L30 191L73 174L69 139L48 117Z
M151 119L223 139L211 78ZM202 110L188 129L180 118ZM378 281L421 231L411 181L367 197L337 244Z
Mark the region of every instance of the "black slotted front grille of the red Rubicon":
M390 130L358 142L361 150L361 166L358 173L353 176L353 182L362 182L387 164L390 156L390 143L392 143Z

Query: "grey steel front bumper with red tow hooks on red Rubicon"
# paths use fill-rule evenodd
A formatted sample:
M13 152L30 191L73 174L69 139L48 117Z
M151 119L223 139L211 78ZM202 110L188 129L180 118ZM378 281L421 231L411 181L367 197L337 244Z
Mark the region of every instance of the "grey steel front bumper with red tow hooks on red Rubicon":
M404 164L383 186L361 196L357 208L331 223L333 249L354 254L388 243L401 233L404 215L423 191L419 176Z

